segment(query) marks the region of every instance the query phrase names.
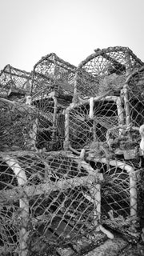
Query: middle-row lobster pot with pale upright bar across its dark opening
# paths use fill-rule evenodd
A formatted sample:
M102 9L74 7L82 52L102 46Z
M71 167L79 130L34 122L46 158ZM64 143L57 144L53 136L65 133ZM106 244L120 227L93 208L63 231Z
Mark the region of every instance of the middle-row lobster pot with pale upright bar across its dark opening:
M92 149L93 142L106 142L107 130L123 122L122 102L118 97L90 98L70 105L66 109L65 146L75 150ZM114 134L114 138L117 137L118 130ZM97 150L95 148L95 152Z

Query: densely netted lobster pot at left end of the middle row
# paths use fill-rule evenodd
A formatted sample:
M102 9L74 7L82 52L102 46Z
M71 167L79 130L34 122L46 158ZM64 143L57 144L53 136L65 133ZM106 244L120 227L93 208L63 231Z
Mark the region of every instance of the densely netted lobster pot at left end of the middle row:
M64 140L63 105L53 95L29 104L0 99L1 150L61 150Z

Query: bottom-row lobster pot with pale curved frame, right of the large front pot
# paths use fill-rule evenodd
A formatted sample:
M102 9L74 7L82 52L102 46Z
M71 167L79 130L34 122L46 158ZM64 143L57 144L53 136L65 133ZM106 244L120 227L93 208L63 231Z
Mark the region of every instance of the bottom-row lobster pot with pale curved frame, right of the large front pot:
M132 225L128 219L138 215L138 172L124 161L107 161L106 158L89 160L104 177L101 187L102 222L115 230L122 231L123 226L124 231L126 226Z

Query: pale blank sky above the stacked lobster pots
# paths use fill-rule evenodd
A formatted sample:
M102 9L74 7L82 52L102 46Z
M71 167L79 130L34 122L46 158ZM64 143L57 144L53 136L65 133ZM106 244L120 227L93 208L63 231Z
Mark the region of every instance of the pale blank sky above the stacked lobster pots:
M78 66L96 48L128 46L144 61L144 0L0 0L0 70L31 71L54 52Z

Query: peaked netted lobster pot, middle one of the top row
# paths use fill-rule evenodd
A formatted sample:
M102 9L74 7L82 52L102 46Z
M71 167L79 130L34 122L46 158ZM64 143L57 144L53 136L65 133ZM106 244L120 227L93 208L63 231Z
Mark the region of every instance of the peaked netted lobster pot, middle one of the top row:
M73 96L76 67L63 61L54 53L42 57L33 70L32 94L43 91L45 94L58 90L63 96Z

